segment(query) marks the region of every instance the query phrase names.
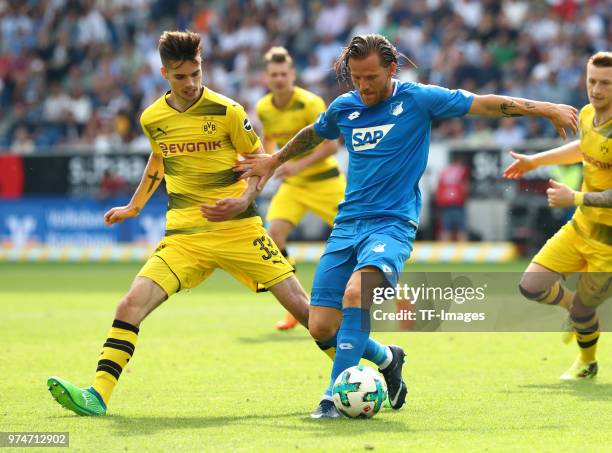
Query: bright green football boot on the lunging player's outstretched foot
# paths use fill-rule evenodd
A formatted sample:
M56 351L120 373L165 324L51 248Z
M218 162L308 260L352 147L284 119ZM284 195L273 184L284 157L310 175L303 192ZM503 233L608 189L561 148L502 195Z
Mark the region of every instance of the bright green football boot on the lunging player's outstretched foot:
M102 397L92 387L82 389L57 376L51 376L47 379L47 389L55 401L75 414L106 414L106 405Z

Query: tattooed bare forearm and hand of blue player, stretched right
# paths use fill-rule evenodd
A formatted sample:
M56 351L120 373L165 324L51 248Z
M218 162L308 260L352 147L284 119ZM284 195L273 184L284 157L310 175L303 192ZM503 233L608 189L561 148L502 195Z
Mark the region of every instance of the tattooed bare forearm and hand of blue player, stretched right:
M468 113L481 116L542 116L553 123L564 140L567 138L566 128L569 128L574 134L578 130L578 110L565 104L532 101L496 94L474 95Z

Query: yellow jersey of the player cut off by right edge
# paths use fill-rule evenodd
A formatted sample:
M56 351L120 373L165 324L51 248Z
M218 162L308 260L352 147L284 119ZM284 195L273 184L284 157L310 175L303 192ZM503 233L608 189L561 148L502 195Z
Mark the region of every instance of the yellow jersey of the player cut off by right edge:
M588 104L580 111L580 149L584 167L582 192L612 189L612 119L595 127L595 109ZM581 206L580 213L595 223L612 226L611 208Z

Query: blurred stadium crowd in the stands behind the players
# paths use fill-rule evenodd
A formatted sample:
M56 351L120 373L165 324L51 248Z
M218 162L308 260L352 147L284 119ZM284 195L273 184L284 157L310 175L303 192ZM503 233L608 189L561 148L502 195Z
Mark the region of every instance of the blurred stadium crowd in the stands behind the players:
M403 80L578 108L586 59L612 47L609 0L0 0L0 152L147 151L139 116L166 89L165 29L201 33L204 83L250 112L272 45L328 101L346 88L332 69L343 45L377 32L416 64L404 62ZM455 119L432 138L511 146L554 135L536 119Z

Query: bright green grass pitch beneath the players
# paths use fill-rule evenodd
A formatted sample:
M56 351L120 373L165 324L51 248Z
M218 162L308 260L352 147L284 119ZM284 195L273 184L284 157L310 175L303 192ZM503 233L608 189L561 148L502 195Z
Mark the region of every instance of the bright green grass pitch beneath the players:
M115 304L137 270L0 264L0 432L68 431L71 451L96 452L612 449L606 334L601 375L563 383L576 346L556 333L377 333L408 353L406 406L372 420L313 421L331 362L304 329L274 331L282 310L271 295L252 294L223 272L143 323L109 416L61 409L47 377L91 384ZM300 266L307 287L313 270Z

